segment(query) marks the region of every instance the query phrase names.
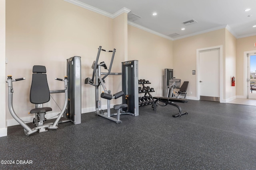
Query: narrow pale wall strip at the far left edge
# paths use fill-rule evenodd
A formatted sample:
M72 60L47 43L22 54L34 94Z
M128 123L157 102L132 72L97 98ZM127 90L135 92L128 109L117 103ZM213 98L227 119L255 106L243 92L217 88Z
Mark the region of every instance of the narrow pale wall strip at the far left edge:
M7 135L7 124L6 124L6 76L5 76L5 47L6 47L6 36L5 36L5 0L0 0L0 137ZM7 107L8 108L8 107Z

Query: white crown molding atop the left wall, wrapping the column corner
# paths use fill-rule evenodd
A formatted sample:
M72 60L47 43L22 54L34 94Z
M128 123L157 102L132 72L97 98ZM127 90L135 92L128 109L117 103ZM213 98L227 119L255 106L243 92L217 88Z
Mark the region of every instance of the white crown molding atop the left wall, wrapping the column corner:
M127 9L127 8L122 8L122 9L118 10L117 12L115 12L114 14L110 14L110 13L108 13L108 12L106 12L106 11L103 11L103 10L100 10L100 9L95 8L95 7L93 7L93 6L84 4L84 3L79 2L79 1L77 1L77 0L64 0L64 1L70 2L71 4L80 6L80 7L82 7L82 8L85 8L85 9L87 9L87 10L96 12L96 13L101 14L101 15L104 15L104 16L107 16L107 17L112 18L112 19L116 18L117 16L119 16L120 14L122 14L122 13L124 13L124 12L125 12L125 13L129 13L129 12L131 11L131 10Z

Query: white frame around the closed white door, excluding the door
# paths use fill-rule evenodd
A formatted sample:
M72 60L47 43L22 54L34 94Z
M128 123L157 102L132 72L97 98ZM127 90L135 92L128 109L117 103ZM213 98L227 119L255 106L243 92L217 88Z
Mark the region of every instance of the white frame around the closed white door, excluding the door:
M200 89L199 89L199 72L200 72L200 52L205 51L205 50L211 50L211 49L220 49L220 103L225 103L225 101L223 100L223 46L222 45L218 45L218 46L214 46L214 47L207 47L207 48L203 48L203 49L196 49L196 70L197 70L197 74L196 74L196 100L200 100Z

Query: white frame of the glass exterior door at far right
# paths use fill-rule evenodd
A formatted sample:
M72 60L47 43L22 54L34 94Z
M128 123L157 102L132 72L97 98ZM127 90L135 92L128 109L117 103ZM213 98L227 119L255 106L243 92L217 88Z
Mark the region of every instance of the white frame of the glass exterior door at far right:
M248 60L247 60L247 54L252 54L252 53L256 53L256 50L253 51L244 51L244 96L240 96L240 98L248 98L248 82L247 82L247 78L248 78L248 70L247 70L247 66L248 66Z

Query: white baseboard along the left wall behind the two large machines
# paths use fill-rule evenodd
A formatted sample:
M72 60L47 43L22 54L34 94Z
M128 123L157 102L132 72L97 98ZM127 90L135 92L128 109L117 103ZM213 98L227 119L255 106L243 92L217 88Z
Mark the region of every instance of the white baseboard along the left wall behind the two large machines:
M114 104L110 104L110 108L113 108L113 107L114 107ZM103 105L101 108L107 109L107 105ZM86 107L81 109L81 113L90 113L92 111L96 111L95 107ZM56 119L58 117L58 113L46 113L45 118ZM25 123L31 123L33 122L34 117L35 115L31 114L30 116L21 117L20 119L22 119L22 121L24 121ZM8 119L6 121L7 121L7 126L19 125L19 123L15 119Z

